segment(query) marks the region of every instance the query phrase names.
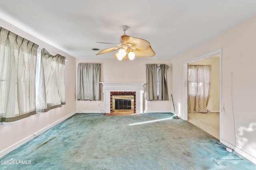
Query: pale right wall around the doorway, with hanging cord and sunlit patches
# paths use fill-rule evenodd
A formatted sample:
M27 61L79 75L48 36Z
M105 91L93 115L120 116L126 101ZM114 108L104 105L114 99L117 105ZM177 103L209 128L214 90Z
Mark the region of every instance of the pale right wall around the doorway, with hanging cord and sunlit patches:
M256 16L172 59L173 93L177 96L176 103L182 105L181 111L184 116L186 115L183 109L186 104L183 99L185 82L181 78L184 73L183 63L222 48L222 132L220 132L222 135L220 142L231 148L234 144L238 153L253 162L256 162L255 30Z

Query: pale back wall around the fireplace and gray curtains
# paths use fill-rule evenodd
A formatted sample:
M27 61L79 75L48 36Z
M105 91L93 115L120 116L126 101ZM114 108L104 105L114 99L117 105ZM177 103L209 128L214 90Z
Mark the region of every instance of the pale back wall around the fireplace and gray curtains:
M172 64L170 59L142 59L135 58L134 60L119 61L118 59L76 59L76 69L78 63L101 63L101 82L105 83L146 83L146 66L145 64L167 64L169 69L167 70L167 85L169 93L169 101L145 101L143 111L154 112L154 111L171 111L171 83L172 83ZM77 71L76 71L77 72ZM144 85L145 94L145 85ZM151 105L150 105L151 103ZM99 106L96 106L98 105ZM100 112L104 110L103 107L103 93L101 101L76 101L77 111L88 111L88 112Z

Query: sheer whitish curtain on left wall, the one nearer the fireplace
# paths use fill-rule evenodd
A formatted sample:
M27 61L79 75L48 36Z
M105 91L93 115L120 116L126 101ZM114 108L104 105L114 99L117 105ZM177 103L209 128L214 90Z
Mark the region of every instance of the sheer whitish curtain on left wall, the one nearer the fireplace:
M36 112L65 105L65 58L42 49L37 62Z

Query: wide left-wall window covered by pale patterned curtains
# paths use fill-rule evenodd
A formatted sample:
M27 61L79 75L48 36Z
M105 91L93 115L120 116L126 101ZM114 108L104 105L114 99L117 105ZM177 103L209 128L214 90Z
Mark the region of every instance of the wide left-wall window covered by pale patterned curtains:
M0 37L0 122L46 112L56 107L51 101L64 105L65 57L45 49L42 55L37 44L2 27Z

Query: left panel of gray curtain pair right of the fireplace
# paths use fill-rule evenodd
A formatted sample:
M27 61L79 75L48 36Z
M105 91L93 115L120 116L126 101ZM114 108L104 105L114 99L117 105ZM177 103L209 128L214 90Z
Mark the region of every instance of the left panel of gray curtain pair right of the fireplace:
M157 100L157 64L146 64L146 100Z

